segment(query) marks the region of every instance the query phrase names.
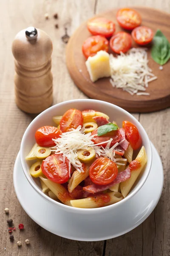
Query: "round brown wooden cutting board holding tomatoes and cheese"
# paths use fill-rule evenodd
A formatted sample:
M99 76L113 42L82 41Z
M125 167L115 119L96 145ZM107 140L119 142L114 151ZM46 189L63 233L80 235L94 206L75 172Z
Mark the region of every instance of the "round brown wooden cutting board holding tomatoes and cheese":
M142 25L150 27L153 32L160 29L170 41L169 14L145 7L134 7L133 9L136 9L142 16ZM118 9L113 9L97 15L113 20L116 24L116 32L122 30L116 22L117 11ZM147 51L148 65L158 79L149 83L146 92L150 93L150 96L131 96L122 89L113 88L109 78L99 79L94 83L90 80L85 66L85 57L82 54L82 44L89 36L91 34L88 32L86 21L71 36L66 49L66 63L69 73L80 90L90 98L111 102L130 112L152 112L170 107L170 61L163 66L163 70L160 70L159 64L151 58L150 46ZM133 43L133 47L138 46Z

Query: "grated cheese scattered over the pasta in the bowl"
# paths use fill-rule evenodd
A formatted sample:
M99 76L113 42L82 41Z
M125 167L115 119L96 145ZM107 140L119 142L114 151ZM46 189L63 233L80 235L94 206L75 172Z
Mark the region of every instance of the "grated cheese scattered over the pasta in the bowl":
M107 140L103 143L94 144L94 142L91 141L94 135L91 135L91 133L84 134L83 130L84 128L81 128L79 125L77 129L72 128L72 131L62 133L59 138L53 139L56 146L54 146L51 151L55 151L55 154L63 154L64 161L65 157L67 157L69 160L69 165L72 164L78 172L84 172L84 170L82 169L82 163L77 157L77 151L79 149L87 149L87 147L94 148L96 154L99 156L107 157L116 164L125 165L124 163L119 163L118 161L126 161L126 159L114 157L115 152L113 152L113 149L116 148L119 143L116 143L111 148L110 145L113 139ZM105 143L107 143L107 145L105 148L103 148L101 144Z

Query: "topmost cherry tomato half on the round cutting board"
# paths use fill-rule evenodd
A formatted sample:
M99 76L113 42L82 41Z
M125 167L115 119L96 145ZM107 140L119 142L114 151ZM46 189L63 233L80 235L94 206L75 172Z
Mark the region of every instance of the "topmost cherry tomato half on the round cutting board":
M133 9L122 8L117 12L117 22L119 25L128 30L132 30L142 23L141 15Z

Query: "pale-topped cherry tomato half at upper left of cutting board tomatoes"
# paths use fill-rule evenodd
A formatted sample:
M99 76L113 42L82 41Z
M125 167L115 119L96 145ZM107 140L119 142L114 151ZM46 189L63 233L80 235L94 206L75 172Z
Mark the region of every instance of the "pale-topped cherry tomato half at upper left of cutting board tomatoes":
M115 24L104 17L93 18L88 21L88 30L92 35L102 35L108 38L115 32Z

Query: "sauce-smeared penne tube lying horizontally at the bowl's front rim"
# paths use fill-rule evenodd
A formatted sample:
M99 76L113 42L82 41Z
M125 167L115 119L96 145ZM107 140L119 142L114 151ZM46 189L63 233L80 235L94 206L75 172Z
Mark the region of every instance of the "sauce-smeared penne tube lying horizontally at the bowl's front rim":
M71 200L71 205L77 208L98 208L115 204L123 199L119 192L110 192L84 199Z

